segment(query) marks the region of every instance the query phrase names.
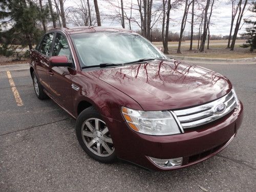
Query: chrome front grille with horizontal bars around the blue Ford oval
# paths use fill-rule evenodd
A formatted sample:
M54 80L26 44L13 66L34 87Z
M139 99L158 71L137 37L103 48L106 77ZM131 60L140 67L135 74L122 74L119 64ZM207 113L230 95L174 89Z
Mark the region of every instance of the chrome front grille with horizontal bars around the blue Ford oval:
M216 107L225 104L226 108L222 113L216 112ZM194 108L175 110L176 119L181 129L187 129L215 121L231 112L238 105L236 93L232 90L225 96Z

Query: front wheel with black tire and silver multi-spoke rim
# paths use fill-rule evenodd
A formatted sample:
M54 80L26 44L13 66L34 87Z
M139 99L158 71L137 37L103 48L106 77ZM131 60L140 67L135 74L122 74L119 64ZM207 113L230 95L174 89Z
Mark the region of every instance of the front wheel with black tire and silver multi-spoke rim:
M102 163L116 161L108 127L93 106L79 114L76 120L76 136L82 149L93 159Z

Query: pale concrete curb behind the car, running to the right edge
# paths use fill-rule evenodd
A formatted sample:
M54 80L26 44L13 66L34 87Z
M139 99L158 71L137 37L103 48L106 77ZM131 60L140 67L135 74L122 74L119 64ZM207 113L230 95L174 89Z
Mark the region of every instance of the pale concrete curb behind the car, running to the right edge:
M226 58L205 58L205 57L186 57L186 56L177 56L177 55L167 55L177 60L186 60L186 61L206 61L206 62L255 62L256 57L241 58L241 59L226 59Z

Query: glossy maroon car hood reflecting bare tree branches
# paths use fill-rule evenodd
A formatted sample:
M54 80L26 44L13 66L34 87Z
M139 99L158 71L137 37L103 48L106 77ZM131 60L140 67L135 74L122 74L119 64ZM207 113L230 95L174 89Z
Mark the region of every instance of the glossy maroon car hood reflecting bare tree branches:
M152 61L88 72L132 97L143 110L170 110L220 98L229 80L214 71L176 60Z

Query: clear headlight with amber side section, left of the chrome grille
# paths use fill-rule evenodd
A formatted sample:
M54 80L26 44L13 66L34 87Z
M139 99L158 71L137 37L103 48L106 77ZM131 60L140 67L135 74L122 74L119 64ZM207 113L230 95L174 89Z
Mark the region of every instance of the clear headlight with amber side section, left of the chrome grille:
M179 134L180 129L168 111L137 111L122 107L122 113L131 129L147 135Z

